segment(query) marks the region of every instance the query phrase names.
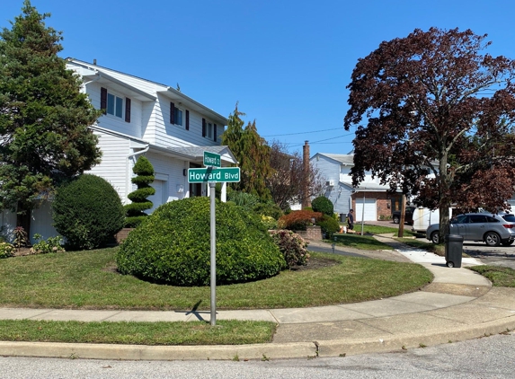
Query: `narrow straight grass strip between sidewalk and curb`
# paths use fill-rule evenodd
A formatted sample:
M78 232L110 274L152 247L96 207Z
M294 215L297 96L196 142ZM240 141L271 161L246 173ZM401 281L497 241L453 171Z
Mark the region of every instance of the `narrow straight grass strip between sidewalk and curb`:
M274 322L49 322L0 320L0 340L131 345L243 345L271 342Z

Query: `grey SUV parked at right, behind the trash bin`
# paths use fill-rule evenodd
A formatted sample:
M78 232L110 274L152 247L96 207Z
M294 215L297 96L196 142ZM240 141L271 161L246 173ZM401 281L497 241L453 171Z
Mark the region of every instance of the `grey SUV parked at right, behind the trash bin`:
M439 229L439 224L430 225L426 238L439 243ZM466 213L450 220L450 234L462 235L464 241L483 241L488 246L510 246L515 241L515 216Z

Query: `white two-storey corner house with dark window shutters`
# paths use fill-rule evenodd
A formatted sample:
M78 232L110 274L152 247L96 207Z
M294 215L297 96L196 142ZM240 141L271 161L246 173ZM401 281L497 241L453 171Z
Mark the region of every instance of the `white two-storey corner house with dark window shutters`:
M154 207L192 196L207 196L205 183L189 184L189 168L202 167L203 153L221 155L222 166L237 163L229 148L220 145L227 119L200 102L165 84L120 73L68 58L67 67L83 79L84 93L104 115L91 128L99 137L102 163L89 173L110 181L124 204L136 187L130 179L138 156L145 154L154 166ZM226 185L222 186L222 200ZM4 232L15 226L15 215L4 211ZM31 234L56 235L48 202L32 212Z

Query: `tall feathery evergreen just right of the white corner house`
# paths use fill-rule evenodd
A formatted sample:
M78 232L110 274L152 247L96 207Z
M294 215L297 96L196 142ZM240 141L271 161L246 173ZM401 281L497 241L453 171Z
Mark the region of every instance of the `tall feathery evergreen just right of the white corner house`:
M270 147L257 132L255 120L244 128L245 114L238 110L228 117L227 128L222 134L222 144L228 145L235 154L241 170L240 182L231 183L234 190L241 190L259 198L271 198L266 178L271 174Z

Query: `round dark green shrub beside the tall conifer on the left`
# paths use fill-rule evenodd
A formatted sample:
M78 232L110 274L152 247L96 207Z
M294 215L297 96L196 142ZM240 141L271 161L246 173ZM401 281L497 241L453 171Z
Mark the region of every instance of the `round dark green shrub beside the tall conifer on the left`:
M120 197L109 181L80 175L58 188L52 203L54 226L67 249L95 249L110 242L124 223Z

